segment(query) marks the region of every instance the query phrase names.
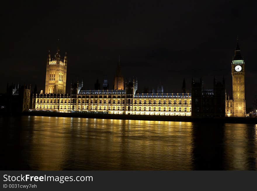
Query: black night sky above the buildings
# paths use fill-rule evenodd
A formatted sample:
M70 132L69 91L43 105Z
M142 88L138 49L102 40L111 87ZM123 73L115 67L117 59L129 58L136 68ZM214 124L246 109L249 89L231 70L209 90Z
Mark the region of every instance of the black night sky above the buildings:
M71 3L72 2L72 3ZM256 1L52 1L16 2L1 7L1 87L35 83L44 89L46 57L60 39L68 56L70 82L83 78L93 89L99 78L112 80L118 55L124 78L137 76L138 87L181 92L183 78L202 76L204 88L213 77L225 77L232 94L231 61L239 36L246 63L246 104L256 88Z

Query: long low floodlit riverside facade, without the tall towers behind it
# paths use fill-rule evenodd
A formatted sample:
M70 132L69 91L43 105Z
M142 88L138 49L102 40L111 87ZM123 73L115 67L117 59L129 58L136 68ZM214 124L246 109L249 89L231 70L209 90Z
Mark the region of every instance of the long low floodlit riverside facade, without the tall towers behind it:
M134 94L126 90L86 90L83 94L37 94L34 109L134 115L191 116L191 94Z

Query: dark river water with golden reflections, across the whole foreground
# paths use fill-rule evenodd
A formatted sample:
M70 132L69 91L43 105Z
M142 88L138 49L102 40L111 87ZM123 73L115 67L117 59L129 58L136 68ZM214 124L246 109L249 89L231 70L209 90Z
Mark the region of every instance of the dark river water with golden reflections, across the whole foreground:
M257 125L0 117L1 170L256 170Z

